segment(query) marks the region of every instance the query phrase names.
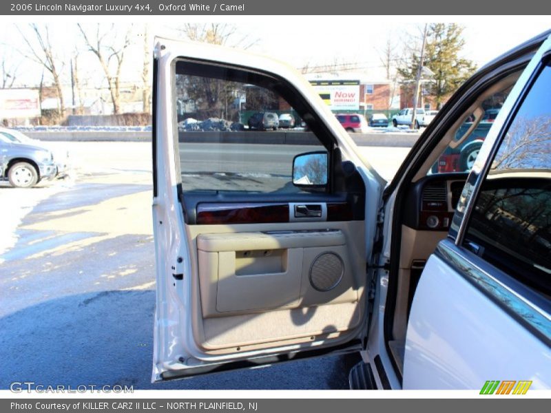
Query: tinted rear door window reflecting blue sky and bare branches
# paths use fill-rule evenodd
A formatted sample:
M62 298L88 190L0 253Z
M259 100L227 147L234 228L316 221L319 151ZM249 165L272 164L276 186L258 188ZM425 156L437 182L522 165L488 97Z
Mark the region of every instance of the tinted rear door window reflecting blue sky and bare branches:
M551 68L528 92L481 185L465 245L551 295Z

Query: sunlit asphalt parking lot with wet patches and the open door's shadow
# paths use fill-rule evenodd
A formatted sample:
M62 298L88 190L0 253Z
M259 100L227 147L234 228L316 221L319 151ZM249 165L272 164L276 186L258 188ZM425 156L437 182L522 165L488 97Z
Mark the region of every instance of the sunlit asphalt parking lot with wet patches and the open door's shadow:
M155 305L151 145L55 142L70 178L0 184L0 388L134 385L185 389L340 389L353 357L324 357L152 385ZM404 147L362 147L391 178Z

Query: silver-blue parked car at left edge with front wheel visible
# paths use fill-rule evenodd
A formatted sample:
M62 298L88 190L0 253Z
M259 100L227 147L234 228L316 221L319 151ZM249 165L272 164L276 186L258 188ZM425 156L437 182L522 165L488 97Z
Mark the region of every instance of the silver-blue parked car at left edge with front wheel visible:
M0 156L3 158L2 180L12 187L34 187L41 180L51 180L57 174L52 151L29 145L0 132Z

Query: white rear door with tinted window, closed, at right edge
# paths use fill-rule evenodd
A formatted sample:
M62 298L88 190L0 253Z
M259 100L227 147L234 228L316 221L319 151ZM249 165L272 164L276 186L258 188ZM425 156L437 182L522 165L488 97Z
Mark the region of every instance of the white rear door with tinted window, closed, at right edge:
M499 112L448 240L424 268L406 337L406 389L551 387L550 45Z

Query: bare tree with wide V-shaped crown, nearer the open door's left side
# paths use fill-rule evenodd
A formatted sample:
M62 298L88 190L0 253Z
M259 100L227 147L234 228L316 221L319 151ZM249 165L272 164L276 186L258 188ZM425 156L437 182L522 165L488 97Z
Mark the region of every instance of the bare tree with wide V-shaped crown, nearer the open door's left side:
M121 112L121 70L125 51L130 45L132 25L127 27L123 36L118 34L115 24L105 28L101 23L97 23L94 34L87 33L80 23L77 25L88 50L96 55L105 74L113 104L113 113L119 114Z

